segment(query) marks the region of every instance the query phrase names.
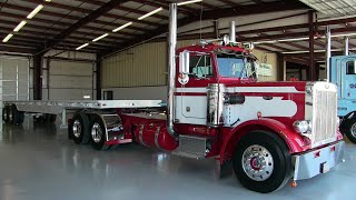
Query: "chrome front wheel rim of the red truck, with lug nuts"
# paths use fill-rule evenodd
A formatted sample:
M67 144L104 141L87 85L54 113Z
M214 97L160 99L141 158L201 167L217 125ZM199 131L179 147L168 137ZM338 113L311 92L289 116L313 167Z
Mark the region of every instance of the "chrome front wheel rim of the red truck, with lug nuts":
M274 158L263 146L248 147L241 158L245 173L255 181L267 180L274 171Z

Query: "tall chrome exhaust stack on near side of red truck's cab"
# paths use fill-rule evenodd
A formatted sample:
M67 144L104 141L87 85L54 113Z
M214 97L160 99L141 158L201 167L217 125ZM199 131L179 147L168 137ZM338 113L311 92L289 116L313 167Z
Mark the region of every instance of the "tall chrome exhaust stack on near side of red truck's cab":
M176 90L176 49L177 49L177 3L169 4L169 37L168 37L168 110L167 131L175 139L175 90Z

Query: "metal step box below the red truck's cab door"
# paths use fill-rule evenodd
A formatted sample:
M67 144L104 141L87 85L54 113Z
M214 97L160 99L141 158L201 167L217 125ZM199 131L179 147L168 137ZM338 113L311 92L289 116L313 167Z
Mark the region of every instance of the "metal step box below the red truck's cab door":
M172 154L192 158L205 159L209 150L207 149L207 142L210 137L197 137L197 136L179 136L179 147L172 151Z

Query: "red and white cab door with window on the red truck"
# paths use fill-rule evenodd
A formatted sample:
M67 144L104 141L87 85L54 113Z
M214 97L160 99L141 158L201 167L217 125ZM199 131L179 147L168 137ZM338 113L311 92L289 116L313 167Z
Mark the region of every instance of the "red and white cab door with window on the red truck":
M179 123L207 123L207 86L214 82L212 59L208 53L191 52L189 80L177 87L176 119Z

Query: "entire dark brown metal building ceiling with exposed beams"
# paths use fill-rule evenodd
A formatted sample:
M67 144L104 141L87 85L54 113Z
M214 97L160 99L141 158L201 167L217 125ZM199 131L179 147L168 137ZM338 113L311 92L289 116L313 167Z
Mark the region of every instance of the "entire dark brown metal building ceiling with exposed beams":
M336 0L328 1L335 2ZM326 1L314 0L314 2ZM33 19L28 20L21 31L13 32L13 28L40 3L44 8ZM76 50L79 46L89 42L90 44L81 51L105 56L151 39L155 41L166 40L164 33L168 31L168 3L166 0L51 0L51 2L44 2L44 0L0 0L0 39L2 40L11 32L14 34L8 42L0 42L0 51L37 54L46 52L48 49ZM139 17L160 7L164 10L159 13L145 20L138 20ZM227 33L227 26L220 26L218 30L215 29L214 21L219 18L288 10L296 11L290 16L269 17L261 21L254 21L251 18L250 22L245 23L244 27L267 21L273 23L280 19L294 20L294 17L307 16L310 7L298 0L204 0L202 3L179 7L179 27L199 21L200 17L202 20L207 20L205 27L190 26L189 29L180 31L179 38L198 39L201 30L204 38L216 38L217 31L220 34ZM132 26L112 33L113 29L129 21L132 21ZM323 34L326 24L334 26L334 33L350 33L356 32L354 23L356 23L356 18L348 18L314 22L314 27L320 34ZM308 38L309 36L310 27L308 23L276 26L238 31L238 39L240 41L265 41ZM110 33L110 36L92 42L93 39L105 33ZM339 38L334 39L333 47L340 48L340 40ZM350 48L356 48L353 43L354 40L350 40ZM304 51L309 50L308 44L307 39L286 40L259 43L257 48L274 52L300 51L300 53L289 57L294 59L299 57L299 60L307 61L308 53ZM315 40L316 50L323 50L324 47L322 39ZM316 56L316 59L318 58Z

